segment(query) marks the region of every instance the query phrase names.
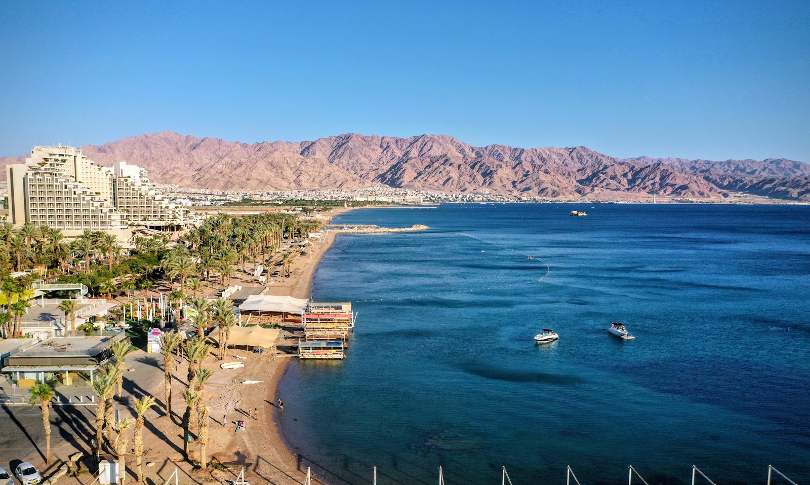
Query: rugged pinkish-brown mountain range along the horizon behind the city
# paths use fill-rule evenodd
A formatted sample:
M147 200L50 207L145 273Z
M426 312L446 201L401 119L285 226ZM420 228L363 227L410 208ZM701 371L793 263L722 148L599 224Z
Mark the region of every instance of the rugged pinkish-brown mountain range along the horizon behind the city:
M722 199L744 192L810 200L810 165L799 161L619 159L586 147L474 147L449 135L351 133L301 143L245 144L163 131L82 150L101 165L141 165L154 182L221 190L355 189L382 183L548 198L624 192ZM24 157L0 158L0 164Z

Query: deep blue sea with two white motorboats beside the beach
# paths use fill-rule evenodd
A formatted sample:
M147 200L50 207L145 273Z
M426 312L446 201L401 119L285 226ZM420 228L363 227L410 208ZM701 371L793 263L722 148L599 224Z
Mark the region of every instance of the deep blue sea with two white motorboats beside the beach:
M359 315L345 360L292 362L279 385L283 433L317 478L370 483L377 466L381 485L434 484L442 466L484 485L505 466L514 485L562 484L571 466L586 485L632 465L676 485L696 465L764 484L770 464L810 482L810 207L447 204L335 222L431 229L340 234L318 268L313 298ZM543 328L560 340L535 345Z

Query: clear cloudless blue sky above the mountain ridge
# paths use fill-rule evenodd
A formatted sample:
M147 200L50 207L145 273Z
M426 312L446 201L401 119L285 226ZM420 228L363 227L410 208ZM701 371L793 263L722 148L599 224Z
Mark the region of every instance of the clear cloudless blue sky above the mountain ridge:
M6 156L173 130L810 162L806 0L6 2L0 67Z

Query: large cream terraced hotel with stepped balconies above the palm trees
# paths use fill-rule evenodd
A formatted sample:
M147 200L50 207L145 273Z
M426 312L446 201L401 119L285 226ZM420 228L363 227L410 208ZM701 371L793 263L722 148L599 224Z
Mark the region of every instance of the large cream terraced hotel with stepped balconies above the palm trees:
M126 161L112 167L87 160L79 148L34 147L24 164L6 167L8 219L74 236L106 230L128 238L132 226L162 229L188 223L185 209L168 203L147 171Z

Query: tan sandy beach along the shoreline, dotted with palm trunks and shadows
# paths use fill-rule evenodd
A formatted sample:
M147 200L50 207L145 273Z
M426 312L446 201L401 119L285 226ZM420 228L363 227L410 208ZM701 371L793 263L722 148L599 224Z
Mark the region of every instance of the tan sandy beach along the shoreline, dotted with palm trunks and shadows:
M347 212L351 208L337 208L329 212L330 217L338 216ZM292 265L292 275L284 278L275 277L269 284L266 294L292 295L296 298L308 298L315 271L318 263L326 251L329 250L335 241L336 234L329 233L322 238L321 242L311 246L311 255L301 256ZM232 285L262 286L257 278L248 274L240 274L233 278ZM207 293L216 294L221 290L212 287ZM143 471L145 481L150 485L160 485L165 483L168 477L177 468L181 482L188 483L224 483L225 480L236 479L242 467L245 467L245 480L254 482L267 482L278 485L288 485L293 483L304 483L306 468L301 466L299 470L299 457L291 453L284 444L279 433L276 414L283 412L279 410L276 398L276 386L283 375L284 367L292 360L292 354L287 354L289 346L285 346L284 341L292 335L294 328L288 328L279 336L279 355L273 352L264 354L254 354L242 350L229 349L224 361L218 361L214 354L205 360L203 365L214 370L214 375L207 381L205 387L205 397L207 406L211 408L211 422L209 423L209 443L207 455L211 463L218 463L224 466L224 470L218 470L219 466L209 467L208 470L201 470L182 459L182 430L179 426L181 415L185 410L185 402L181 398L181 391L186 387L186 373L188 363L178 362L175 358L175 370L173 386L171 418L165 417L164 400L164 355L147 354L139 350L130 354L127 358L130 372L125 376L125 389L130 394L124 397L122 402L116 406L125 408L122 416L131 415L134 417L134 397L151 395L156 398L158 405L147 411L147 426L144 430L144 443L146 452L143 457ZM292 342L291 342L292 345ZM239 360L245 363L245 367L235 370L224 370L220 368L220 363ZM242 384L244 381L258 381L256 384ZM61 440L56 427L67 427L70 423L53 422L54 439L53 454L57 457L54 464L45 468L44 475L52 481L58 479L60 483L82 483L89 485L95 477L89 474L79 474L75 478L63 474L66 466L63 461L77 451L85 455L83 468L92 463L89 458L89 441L94 428L92 418L95 412L94 406L76 406L75 418L84 421L87 436L83 440ZM254 410L258 410L258 419L254 417ZM52 414L53 415L53 414ZM227 418L227 423L224 423ZM247 430L236 431L237 420L245 420ZM71 425L72 427L73 425ZM71 431L73 432L73 431ZM130 433L130 446L131 432ZM190 457L192 460L199 458L199 443L196 440L198 430L192 427L191 434L194 441L190 444ZM42 444L37 444L41 447ZM112 457L112 456L111 456ZM37 461L39 455L32 453L29 457ZM152 464L147 466L147 464ZM136 479L137 468L135 466L134 454L126 457L126 467L130 480ZM95 466L90 466L95 469ZM314 470L313 470L314 473ZM129 480L128 480L129 481ZM313 482L322 483L318 476L313 477Z

